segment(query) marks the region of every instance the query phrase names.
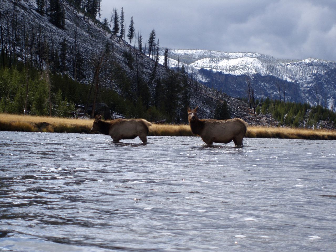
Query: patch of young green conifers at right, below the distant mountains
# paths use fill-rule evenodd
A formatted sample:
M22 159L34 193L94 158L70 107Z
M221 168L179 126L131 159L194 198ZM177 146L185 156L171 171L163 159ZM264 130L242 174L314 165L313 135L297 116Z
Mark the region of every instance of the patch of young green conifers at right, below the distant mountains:
M333 122L336 124L336 113L332 109L327 109L321 105L311 106L308 103L284 102L271 100L268 97L259 101L256 100L257 114L269 113L282 125L289 127L321 127L321 121Z

